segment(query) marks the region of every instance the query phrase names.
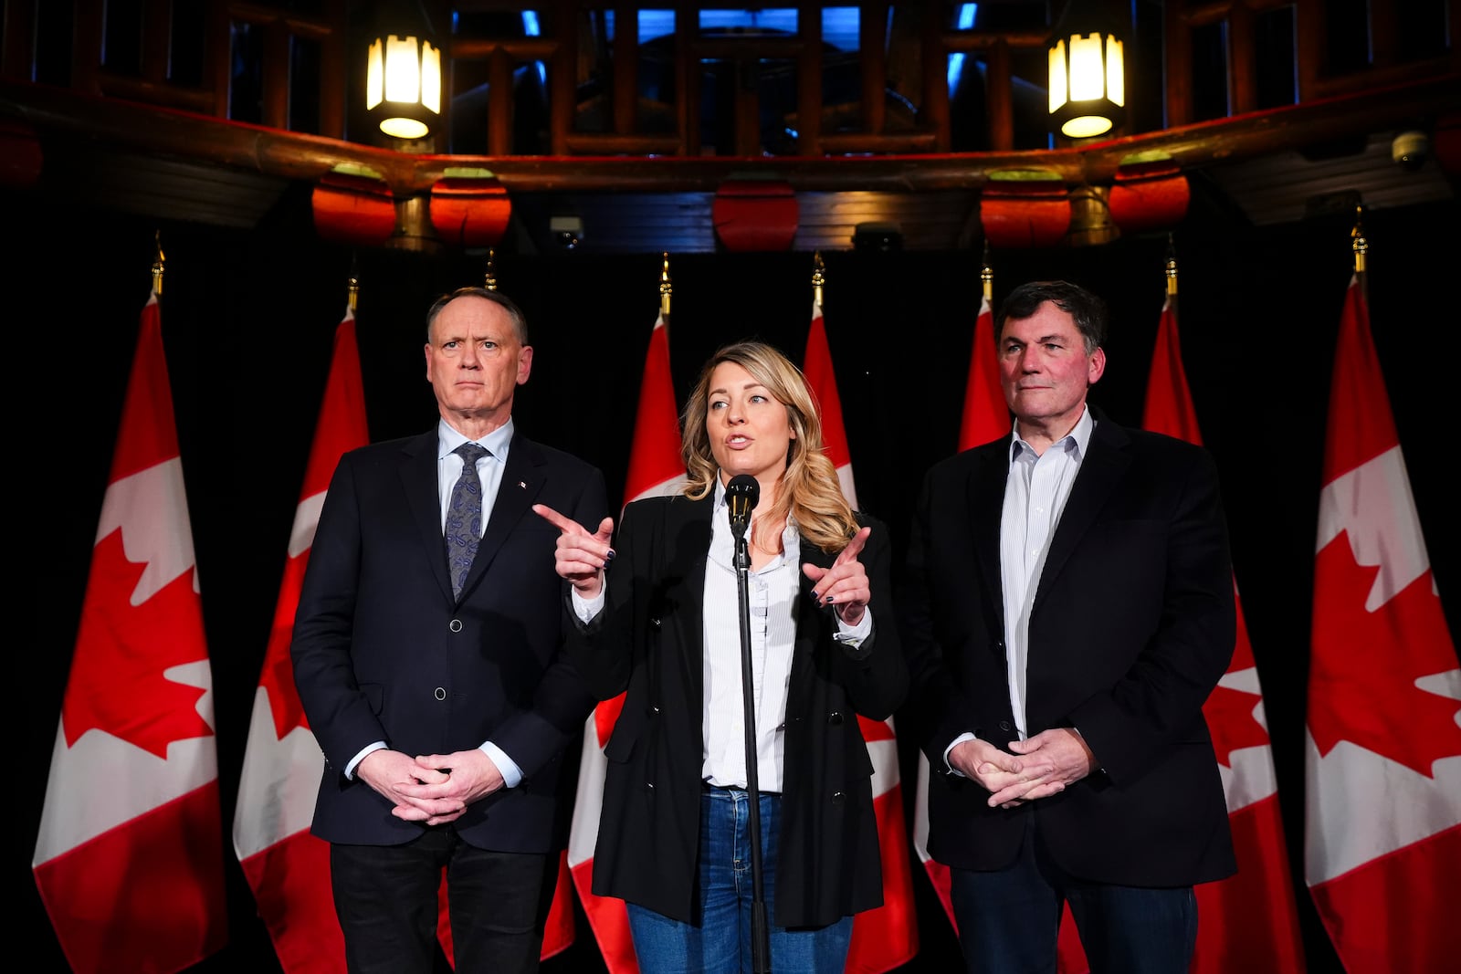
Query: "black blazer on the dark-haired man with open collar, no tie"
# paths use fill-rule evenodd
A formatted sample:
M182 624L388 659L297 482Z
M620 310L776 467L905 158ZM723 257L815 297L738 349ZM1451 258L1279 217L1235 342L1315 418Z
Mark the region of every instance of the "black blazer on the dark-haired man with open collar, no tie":
M998 869L1036 815L1053 860L1083 879L1221 879L1236 864L1202 702L1232 659L1236 609L1217 472L1199 447L1093 416L1030 616L1027 730L1074 726L1102 762L1061 794L991 809L983 787L937 772L960 733L1015 739L999 575L1010 437L923 480L903 619L910 717L935 770L929 854Z

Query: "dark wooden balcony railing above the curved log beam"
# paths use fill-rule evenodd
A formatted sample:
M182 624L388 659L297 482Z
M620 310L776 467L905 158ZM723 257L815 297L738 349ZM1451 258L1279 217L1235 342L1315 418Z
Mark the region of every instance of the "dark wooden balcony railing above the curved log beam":
M1141 95L1134 91L1138 104L1124 134L1273 108L1275 105L1264 104L1261 95L1265 70L1292 74L1292 104L1455 73L1461 70L1461 54L1451 34L1455 23L1446 16L1448 3L1178 0L1138 4L1135 32L1160 37L1160 45L1150 51L1151 45L1137 38L1128 47L1138 57L1128 54L1128 60L1143 72L1141 89L1160 95L1147 95L1147 102L1141 104ZM488 4L459 6L484 9ZM643 124L646 99L638 77L637 7L599 7L584 0L498 0L489 4L497 13L536 12L543 34L522 37L522 31L501 35L463 31L446 41L449 74L451 64L463 73L468 64L487 64L487 99L473 102L470 108L487 114L485 152L472 155L695 158L713 150L729 156L757 156L764 152L760 120L767 107L761 104L751 76L757 66L767 63L795 66L795 102L789 105L787 115L795 120L796 136L795 152L789 155L799 159L1059 147L1017 139L1014 91L1034 83L1031 76L1037 77L1039 69L1033 66L1043 64L1043 47L1049 37L1045 23L960 31L950 26L957 4L863 3L856 51L859 91L847 110L837 114L836 130L828 130L823 121L833 105L823 70L825 44L821 12L824 6L846 4L834 0L825 4L799 3L795 34L733 37L700 31L695 18L698 6L676 3L674 7L672 91L655 105L663 110L657 117L668 118L672 130L649 131ZM1046 7L1043 1L1031 6L1011 0L986 6L1030 7L1042 19ZM1454 7L1454 3L1449 6ZM300 13L297 7L311 13ZM349 79L361 61L351 42L362 35L362 7L368 9L368 4L345 0L292 4L238 0L205 4L12 1L4 6L4 22L0 25L0 77L47 82L88 95L370 143L373 137L365 133L365 126L352 124L358 112L351 110L351 96L358 86ZM435 23L451 22L450 3L434 0L428 9L434 12ZM130 19L126 18L129 10ZM600 18L595 15L608 10L615 18L612 38L596 26ZM1356 13L1365 18L1359 31L1353 23ZM1150 23L1140 18L1150 19ZM494 25L503 22L514 19L492 19ZM473 20L462 18L462 23ZM1278 28L1274 29L1274 25ZM1280 41L1287 39L1290 48L1287 60L1280 51L1277 64L1267 63L1274 60L1274 35ZM1221 50L1205 50L1211 47L1204 47L1205 37L1216 37ZM1367 53L1360 63L1337 53L1344 38L1353 37L1362 38ZM1270 38L1268 48L1264 48L1265 38ZM1424 39L1416 42L1417 38ZM985 126L983 131L964 140L969 145L957 143L953 134L947 82L951 54L964 54L982 67ZM901 60L897 77L890 79L894 57ZM1208 70L1213 60L1221 69L1216 77ZM730 111L733 133L729 137L709 139L701 131L701 66L707 61L733 66L730 70L739 82L735 85ZM1144 70L1140 67L1143 63L1147 66ZM543 66L546 117L539 139L523 139L514 117L514 73L535 64ZM310 70L301 70L302 66ZM1153 83L1157 76L1163 79L1160 85ZM606 91L606 130L589 131L580 124L579 92L589 82L599 82ZM308 89L302 89L305 85ZM1202 111L1202 99L1195 98L1202 85L1218 91L1220 114ZM890 91L912 107L912 124L907 118L891 124L887 111ZM443 127L450 133L451 112L468 110L453 108L451 99L447 101ZM1210 96L1207 102L1211 101ZM295 111L300 105L310 105L311 111ZM855 124L847 124L847 120ZM481 121L456 120L462 129ZM529 142L535 145L526 145ZM413 147L459 152L450 136Z

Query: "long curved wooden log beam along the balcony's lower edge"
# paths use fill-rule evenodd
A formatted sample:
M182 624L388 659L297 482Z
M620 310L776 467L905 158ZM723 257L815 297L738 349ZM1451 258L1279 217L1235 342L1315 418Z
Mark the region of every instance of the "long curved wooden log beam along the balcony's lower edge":
M1452 111L1457 104L1461 73L1078 147L818 158L462 156L400 153L0 79L0 115L26 123L47 152L54 136L57 150L70 145L85 152L88 145L105 143L139 155L310 181L355 164L380 172L397 197L430 191L450 166L489 169L508 191L523 193L713 193L733 174L782 178L798 191L916 193L977 188L992 172L1008 169L1046 169L1067 185L1096 185L1112 183L1116 169L1137 156L1170 159L1186 172L1386 130L1417 115Z

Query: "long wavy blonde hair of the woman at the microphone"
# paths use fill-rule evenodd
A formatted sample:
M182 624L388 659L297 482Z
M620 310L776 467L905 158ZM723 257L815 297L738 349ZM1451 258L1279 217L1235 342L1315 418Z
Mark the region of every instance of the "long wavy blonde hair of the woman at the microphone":
M802 537L824 552L840 552L858 533L858 518L842 495L836 467L827 459L817 402L801 369L764 342L726 345L700 371L695 388L679 416L679 428L684 431L679 453L688 476L685 496L698 501L714 491L720 466L710 451L706 413L710 409L710 374L723 362L744 368L776 402L786 406L786 418L796 432L786 450L786 470L782 473L768 523L790 517Z

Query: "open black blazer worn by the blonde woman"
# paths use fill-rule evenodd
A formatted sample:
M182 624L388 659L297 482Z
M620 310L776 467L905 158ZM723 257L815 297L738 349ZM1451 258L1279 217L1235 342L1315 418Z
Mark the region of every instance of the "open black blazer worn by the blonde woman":
M605 746L608 770L593 892L690 923L697 889L704 735L707 496L649 498L624 510L608 603L570 637L574 663L600 699L627 691ZM882 904L872 761L858 714L885 720L907 691L891 600L891 548L872 518L862 551L874 635L856 650L801 574L786 701L782 834L774 863L777 926L823 926ZM831 565L802 540L801 559Z

